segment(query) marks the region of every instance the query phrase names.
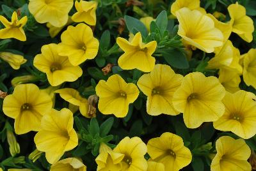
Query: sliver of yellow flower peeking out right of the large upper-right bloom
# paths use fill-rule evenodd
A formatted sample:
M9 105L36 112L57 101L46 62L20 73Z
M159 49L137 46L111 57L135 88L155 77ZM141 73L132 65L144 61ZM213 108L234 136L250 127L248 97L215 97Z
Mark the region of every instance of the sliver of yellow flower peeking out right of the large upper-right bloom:
M232 33L232 26L225 22L220 22L217 20L211 13L207 13L207 16L210 17L214 21L214 27L219 29L223 34L223 41L227 41L230 34Z

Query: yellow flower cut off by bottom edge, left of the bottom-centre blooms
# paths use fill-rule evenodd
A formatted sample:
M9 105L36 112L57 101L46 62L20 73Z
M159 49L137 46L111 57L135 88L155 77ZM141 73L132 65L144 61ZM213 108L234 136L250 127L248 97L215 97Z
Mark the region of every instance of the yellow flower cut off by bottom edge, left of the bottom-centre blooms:
M51 165L50 171L86 171L86 166L77 158L65 158Z

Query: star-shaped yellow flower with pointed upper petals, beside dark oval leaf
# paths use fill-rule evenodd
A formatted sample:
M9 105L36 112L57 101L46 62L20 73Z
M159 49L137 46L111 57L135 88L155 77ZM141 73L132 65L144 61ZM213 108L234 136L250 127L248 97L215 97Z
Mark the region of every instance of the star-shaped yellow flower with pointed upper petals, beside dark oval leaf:
M150 72L154 69L156 59L152 57L152 54L156 50L156 41L150 41L145 45L142 43L141 33L138 32L131 42L118 37L116 43L125 52L118 59L120 68L123 70L137 68L144 72Z

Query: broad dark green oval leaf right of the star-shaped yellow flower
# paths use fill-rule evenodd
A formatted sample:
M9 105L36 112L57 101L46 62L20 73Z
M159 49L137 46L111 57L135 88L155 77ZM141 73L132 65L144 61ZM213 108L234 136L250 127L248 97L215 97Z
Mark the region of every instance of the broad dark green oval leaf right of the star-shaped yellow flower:
M189 63L186 58L186 54L180 51L178 48L168 48L161 52L165 61L174 68L187 69Z

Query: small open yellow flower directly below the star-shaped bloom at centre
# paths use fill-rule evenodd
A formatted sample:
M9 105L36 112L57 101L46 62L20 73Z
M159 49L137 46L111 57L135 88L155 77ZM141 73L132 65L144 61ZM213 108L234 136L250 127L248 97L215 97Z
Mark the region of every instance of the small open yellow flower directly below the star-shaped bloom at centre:
M133 103L140 93L135 84L127 84L117 74L109 77L107 81L100 80L95 91L99 96L99 111L105 115L114 114L116 117L125 117L129 104Z

